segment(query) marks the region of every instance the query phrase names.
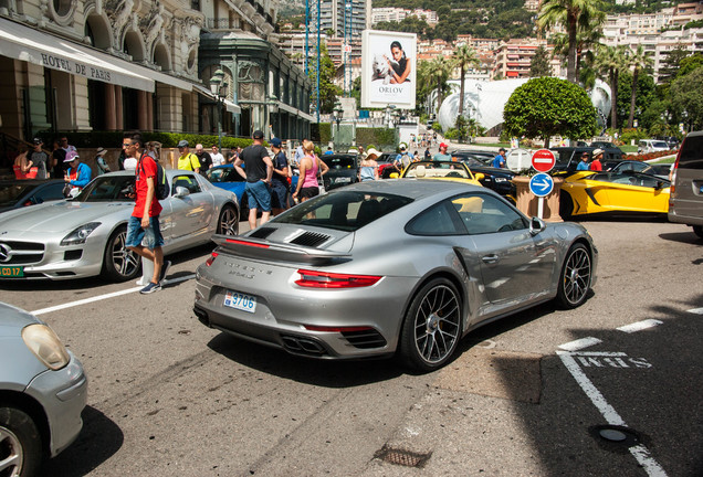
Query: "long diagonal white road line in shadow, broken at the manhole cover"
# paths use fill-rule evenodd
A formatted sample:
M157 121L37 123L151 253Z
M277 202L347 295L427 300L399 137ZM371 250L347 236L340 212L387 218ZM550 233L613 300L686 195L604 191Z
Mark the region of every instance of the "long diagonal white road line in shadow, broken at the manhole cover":
M620 414L606 401L606 398L598 391L588 377L581 371L580 367L576 363L576 360L568 351L557 351L557 356L562 359L562 362L566 369L571 373L578 385L584 390L590 402L600 411L600 414L606 418L606 422L610 425L618 425L627 427L627 424L620 417ZM637 459L638 464L644 469L650 477L665 477L667 471L659 465L657 460L652 458L649 451L644 445L640 444L630 447L630 454Z

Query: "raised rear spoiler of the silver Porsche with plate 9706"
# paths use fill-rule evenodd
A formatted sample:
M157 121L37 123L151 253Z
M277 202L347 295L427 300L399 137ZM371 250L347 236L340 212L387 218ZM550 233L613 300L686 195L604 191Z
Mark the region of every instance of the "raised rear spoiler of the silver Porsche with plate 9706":
M345 252L330 252L300 245L269 242L231 235L212 235L212 241L228 254L248 258L276 259L283 262L302 262L311 265L325 265L332 262L346 262L352 255Z

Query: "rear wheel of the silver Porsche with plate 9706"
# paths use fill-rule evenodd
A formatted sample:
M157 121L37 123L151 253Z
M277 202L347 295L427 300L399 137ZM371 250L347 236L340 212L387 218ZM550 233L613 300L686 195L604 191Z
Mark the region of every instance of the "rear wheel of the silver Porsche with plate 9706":
M461 300L457 287L436 278L415 296L406 315L401 356L421 371L441 368L450 360L461 338Z

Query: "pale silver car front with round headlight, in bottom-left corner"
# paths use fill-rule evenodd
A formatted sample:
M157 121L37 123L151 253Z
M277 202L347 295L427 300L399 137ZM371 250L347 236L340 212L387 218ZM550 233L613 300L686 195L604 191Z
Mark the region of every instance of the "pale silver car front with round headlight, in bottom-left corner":
M0 475L33 476L78 436L81 361L43 321L0 303Z

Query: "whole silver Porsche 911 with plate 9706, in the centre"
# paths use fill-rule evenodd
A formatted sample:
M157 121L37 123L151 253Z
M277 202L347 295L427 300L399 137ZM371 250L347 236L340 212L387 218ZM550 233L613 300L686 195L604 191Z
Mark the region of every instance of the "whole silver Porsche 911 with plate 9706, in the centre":
M480 325L555 298L581 305L598 262L579 224L423 179L352 184L214 240L197 269L204 325L322 359L398 353L423 371Z

